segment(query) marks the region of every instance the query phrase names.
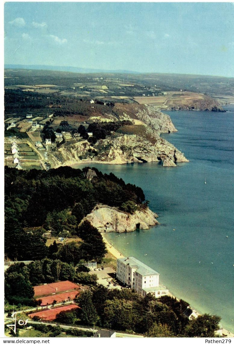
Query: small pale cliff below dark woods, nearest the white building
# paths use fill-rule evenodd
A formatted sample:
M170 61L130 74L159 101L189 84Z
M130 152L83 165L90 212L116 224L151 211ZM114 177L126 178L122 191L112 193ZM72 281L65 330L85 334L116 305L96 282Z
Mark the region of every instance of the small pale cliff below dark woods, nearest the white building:
M98 205L83 221L87 219L99 232L124 233L149 229L149 226L158 224L157 217L149 208L131 215L107 205Z

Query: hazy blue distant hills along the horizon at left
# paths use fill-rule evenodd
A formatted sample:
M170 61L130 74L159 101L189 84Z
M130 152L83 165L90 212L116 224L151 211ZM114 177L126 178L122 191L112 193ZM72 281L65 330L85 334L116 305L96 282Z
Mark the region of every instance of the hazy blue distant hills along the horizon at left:
M46 66L46 65L14 65L5 64L6 69L35 69L44 71L61 71L61 72L72 72L72 73L126 73L126 74L140 74L134 71L125 70L107 70L107 69L92 69L92 68L81 68L81 67L70 67L70 66Z

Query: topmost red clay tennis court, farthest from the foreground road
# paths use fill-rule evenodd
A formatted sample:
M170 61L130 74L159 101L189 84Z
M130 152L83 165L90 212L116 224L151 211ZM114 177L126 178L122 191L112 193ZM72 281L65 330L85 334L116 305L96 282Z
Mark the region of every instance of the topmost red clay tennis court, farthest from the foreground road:
M50 295L53 293L59 293L62 291L69 291L75 290L79 288L77 284L72 283L70 281L62 281L62 282L55 282L49 284L43 284L42 286L35 286L34 288L34 296L43 296L43 295Z

